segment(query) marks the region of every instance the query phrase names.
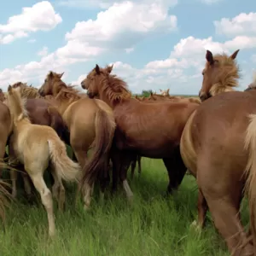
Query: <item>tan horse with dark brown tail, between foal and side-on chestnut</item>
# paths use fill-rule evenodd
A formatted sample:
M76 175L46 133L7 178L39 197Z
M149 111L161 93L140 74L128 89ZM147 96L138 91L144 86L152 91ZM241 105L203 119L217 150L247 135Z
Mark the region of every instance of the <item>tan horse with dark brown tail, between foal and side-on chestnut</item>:
M54 97L70 131L71 147L80 166L84 167L81 188L84 190L84 208L87 209L96 179L100 178L103 191L108 178L109 151L115 131L113 111L105 102L83 97L72 86L67 86L61 80L62 74L49 72L38 92L41 96ZM87 161L91 145L95 146L95 152Z

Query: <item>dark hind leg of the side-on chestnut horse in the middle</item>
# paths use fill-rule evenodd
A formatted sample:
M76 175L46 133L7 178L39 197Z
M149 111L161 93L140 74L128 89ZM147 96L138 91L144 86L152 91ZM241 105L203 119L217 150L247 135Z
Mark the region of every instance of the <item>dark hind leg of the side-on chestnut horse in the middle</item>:
M163 161L169 176L167 193L172 194L173 190L177 189L177 187L183 181L187 168L184 165L179 153L179 147L175 148L171 158L164 158Z

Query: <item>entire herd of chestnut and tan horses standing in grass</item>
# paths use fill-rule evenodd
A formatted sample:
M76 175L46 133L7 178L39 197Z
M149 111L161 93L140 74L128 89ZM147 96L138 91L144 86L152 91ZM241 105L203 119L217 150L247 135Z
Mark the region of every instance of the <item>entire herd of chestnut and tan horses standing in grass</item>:
M53 236L52 195L63 210L62 179L78 184L84 209L90 208L96 182L102 197L110 182L113 192L121 183L131 201L129 166L133 176L137 162L141 172L141 157L162 159L168 193L178 188L187 169L196 178L198 219L192 225L203 229L209 209L232 255L256 255L256 78L246 90L236 90L238 52L212 55L207 50L199 97L170 96L169 90L133 97L125 81L112 74L113 66L98 65L81 82L86 94L54 72L39 89L18 82L6 93L1 90L0 157L8 145L12 195L17 194L15 167L23 171L27 196L31 181L38 190ZM43 177L48 166L52 194ZM244 195L247 232L240 217Z

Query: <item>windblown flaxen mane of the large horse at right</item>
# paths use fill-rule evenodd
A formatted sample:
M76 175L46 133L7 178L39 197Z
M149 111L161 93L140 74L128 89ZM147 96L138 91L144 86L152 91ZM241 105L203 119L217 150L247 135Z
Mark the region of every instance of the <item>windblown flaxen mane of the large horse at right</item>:
M219 71L219 82L218 84L213 84L210 90L212 96L218 95L222 92L235 90L234 88L238 86L238 79L240 79L240 68L236 63L236 60L230 58L226 54L218 54L213 56L214 61L218 61ZM206 68L208 68L209 63L207 62Z

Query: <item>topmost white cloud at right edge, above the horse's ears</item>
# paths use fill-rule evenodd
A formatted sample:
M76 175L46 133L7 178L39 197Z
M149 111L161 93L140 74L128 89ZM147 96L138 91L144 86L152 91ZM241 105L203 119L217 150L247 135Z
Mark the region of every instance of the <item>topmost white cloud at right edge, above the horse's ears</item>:
M218 34L225 36L256 36L256 13L241 13L233 19L215 20L214 26Z

